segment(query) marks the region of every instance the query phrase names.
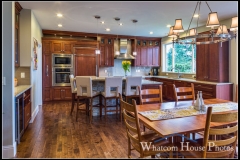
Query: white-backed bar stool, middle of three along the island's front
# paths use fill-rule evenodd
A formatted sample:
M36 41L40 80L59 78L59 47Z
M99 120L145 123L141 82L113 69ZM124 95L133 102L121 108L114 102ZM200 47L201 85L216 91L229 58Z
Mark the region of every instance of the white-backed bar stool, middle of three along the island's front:
M118 114L119 93L122 94L122 77L106 77L105 90L102 92L105 120L107 119L107 112L116 112ZM107 100L109 99L116 99L116 106L107 106ZM116 107L116 110L107 110L107 107Z

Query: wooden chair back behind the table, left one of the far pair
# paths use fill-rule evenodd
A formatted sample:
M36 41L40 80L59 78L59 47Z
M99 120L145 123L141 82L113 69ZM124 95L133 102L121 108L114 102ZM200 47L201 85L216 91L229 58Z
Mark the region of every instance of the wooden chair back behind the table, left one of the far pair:
M158 89L142 89L138 86L140 104L162 103L162 85Z

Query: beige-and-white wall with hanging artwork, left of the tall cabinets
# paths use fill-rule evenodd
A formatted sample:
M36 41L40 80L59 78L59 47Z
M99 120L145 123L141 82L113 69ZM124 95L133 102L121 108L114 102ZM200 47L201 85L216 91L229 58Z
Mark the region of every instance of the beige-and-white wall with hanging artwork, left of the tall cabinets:
M37 22L35 15L29 9L23 9L20 13L20 65L30 66L31 78L31 102L32 102L32 120L38 112L38 106L42 105L42 29ZM38 68L34 70L33 63L33 39L38 41L37 59Z

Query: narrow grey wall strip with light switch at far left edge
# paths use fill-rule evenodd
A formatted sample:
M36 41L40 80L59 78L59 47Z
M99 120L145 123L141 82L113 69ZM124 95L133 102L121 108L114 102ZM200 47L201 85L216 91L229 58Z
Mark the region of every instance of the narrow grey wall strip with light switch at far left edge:
M15 110L14 110L14 31L15 4L2 2L2 158L16 154Z

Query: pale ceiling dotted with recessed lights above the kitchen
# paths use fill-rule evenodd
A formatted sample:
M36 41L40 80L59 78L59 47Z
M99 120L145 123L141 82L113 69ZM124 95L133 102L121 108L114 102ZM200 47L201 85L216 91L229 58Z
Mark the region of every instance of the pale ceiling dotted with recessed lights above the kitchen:
M183 28L188 29L197 1L19 1L23 9L31 9L44 30L132 35L144 37L164 37L168 34L167 25L174 25L175 19L182 19ZM238 15L237 1L210 1L212 12L218 12L219 21ZM57 17L61 13L63 17ZM198 26L206 24L210 10L205 2L201 3ZM97 20L94 16L99 15ZM123 26L114 18L119 17ZM138 20L133 23L132 20ZM105 24L101 24L105 21ZM58 27L58 24L62 27ZM196 27L193 19L190 28ZM230 26L227 26L230 28ZM110 32L105 29L110 28ZM152 31L153 34L149 34Z

